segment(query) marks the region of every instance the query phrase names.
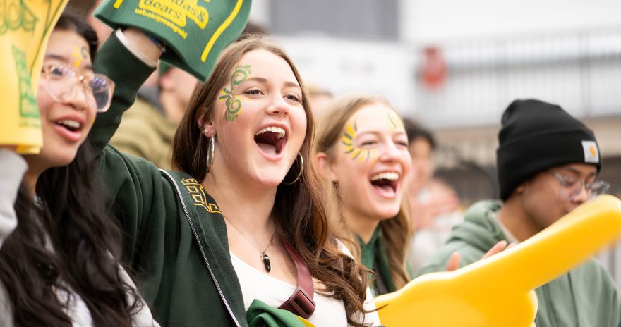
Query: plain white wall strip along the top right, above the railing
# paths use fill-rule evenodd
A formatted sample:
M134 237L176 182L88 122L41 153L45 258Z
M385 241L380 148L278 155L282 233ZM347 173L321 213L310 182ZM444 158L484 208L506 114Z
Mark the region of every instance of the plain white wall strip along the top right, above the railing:
M617 26L618 0L401 0L402 39L442 44L464 38Z

